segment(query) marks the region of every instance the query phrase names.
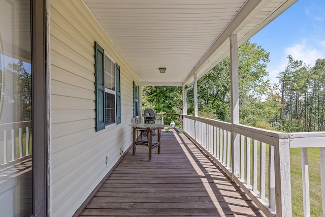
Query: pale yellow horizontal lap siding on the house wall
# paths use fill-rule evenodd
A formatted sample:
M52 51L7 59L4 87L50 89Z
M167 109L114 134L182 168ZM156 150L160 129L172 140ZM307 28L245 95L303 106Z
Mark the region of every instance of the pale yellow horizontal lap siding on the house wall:
M82 1L49 1L51 216L71 216L132 143L139 79ZM121 124L95 132L94 41L121 68ZM110 162L106 166L106 156Z

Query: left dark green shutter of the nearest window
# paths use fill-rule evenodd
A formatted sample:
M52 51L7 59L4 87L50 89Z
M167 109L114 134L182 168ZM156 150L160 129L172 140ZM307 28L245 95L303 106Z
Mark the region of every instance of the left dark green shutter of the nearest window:
M105 129L104 49L95 42L95 112L96 131Z

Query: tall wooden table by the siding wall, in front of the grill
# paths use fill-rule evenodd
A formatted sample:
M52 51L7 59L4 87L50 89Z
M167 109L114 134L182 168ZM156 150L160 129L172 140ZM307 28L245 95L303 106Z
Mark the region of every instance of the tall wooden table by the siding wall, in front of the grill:
M133 155L136 154L136 145L145 145L149 148L149 161L151 160L152 149L158 147L158 154L160 153L160 132L161 129L168 127L167 125L159 125L156 123L134 123L131 125L133 128ZM153 130L157 130L157 142L152 141ZM147 140L139 140L137 138L137 131L146 132ZM142 135L141 135L142 138Z

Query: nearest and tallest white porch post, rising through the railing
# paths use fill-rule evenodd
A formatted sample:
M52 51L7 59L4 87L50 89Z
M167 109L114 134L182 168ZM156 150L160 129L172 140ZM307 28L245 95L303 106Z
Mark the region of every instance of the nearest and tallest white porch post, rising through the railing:
M239 177L239 135L234 132L234 124L239 123L239 84L238 84L238 44L237 35L230 36L230 79L232 101L232 180Z

